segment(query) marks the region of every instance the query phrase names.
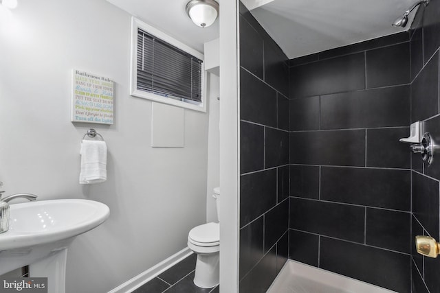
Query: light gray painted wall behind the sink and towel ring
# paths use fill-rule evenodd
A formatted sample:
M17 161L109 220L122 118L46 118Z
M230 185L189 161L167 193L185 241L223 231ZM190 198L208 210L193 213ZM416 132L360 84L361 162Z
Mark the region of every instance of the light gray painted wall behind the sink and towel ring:
M67 293L108 292L185 248L190 228L206 222L208 114L185 111L185 148L151 148L151 102L129 95L129 14L104 0L22 0L0 14L6 195L86 198L111 211L69 248ZM72 124L74 68L115 81L115 124ZM107 142L108 176L81 186L90 127Z

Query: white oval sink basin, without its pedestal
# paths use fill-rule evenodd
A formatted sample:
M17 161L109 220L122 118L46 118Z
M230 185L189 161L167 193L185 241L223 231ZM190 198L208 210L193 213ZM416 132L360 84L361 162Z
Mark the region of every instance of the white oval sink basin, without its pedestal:
M0 251L56 242L85 233L109 218L94 200L42 200L11 204L10 228L0 234Z

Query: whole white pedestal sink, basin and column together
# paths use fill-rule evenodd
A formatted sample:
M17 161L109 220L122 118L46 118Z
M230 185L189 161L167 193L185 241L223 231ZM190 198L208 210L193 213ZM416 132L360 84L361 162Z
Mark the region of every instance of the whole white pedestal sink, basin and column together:
M67 247L109 218L93 200L11 204L10 229L0 234L0 274L29 265L30 277L47 277L49 293L65 292Z

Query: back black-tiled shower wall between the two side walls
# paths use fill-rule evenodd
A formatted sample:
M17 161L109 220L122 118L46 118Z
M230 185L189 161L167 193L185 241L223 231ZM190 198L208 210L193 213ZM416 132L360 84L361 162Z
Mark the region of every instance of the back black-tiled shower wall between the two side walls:
M410 34L290 60L289 257L411 292Z

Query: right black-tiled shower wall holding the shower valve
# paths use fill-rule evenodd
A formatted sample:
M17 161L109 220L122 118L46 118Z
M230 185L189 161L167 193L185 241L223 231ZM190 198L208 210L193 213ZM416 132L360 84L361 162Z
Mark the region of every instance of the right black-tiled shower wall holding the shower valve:
M410 38L411 121L423 121L424 131L439 143L440 1L430 1L424 11L421 8ZM415 235L439 240L439 180L439 152L430 166L412 155L412 292L440 292L440 259L418 255L414 244Z

